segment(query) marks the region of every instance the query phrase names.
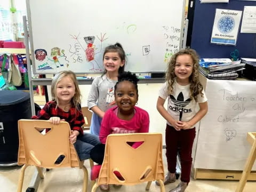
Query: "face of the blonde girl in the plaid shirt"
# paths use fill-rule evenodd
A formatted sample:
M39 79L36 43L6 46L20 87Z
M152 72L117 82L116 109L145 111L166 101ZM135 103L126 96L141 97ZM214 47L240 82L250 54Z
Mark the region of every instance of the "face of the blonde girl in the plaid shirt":
M68 103L75 95L75 84L69 76L63 77L56 86L56 97L59 102Z

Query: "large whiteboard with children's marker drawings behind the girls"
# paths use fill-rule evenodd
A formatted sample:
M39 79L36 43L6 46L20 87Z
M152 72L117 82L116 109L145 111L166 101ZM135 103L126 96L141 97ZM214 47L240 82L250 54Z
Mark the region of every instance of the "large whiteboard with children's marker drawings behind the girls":
M184 1L27 0L35 74L99 73L105 47L119 42L125 70L163 72L179 51Z

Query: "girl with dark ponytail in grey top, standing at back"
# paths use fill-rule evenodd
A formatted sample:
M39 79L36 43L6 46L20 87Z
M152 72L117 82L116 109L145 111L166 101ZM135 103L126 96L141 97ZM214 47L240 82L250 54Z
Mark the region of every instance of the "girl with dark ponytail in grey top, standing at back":
M113 107L114 86L118 74L123 73L125 52L121 44L107 46L103 53L104 73L93 80L87 106L93 111L90 132L99 135L105 111Z

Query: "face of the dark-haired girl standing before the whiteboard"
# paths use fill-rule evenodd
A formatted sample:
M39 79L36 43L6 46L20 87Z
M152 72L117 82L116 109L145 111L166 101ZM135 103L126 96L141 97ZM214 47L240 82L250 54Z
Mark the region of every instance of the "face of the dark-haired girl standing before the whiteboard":
M115 72L119 67L124 66L124 60L121 60L118 52L108 52L104 55L103 65L107 71Z

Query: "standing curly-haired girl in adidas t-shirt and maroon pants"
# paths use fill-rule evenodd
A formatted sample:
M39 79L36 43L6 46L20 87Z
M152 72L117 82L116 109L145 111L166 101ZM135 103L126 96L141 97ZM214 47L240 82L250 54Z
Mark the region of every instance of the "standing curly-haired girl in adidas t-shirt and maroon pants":
M198 78L198 55L185 49L175 53L168 65L166 83L159 91L157 110L166 119L166 157L168 173L164 185L175 182L177 153L181 159L181 182L169 192L185 191L190 181L195 124L207 113L207 99ZM168 98L167 110L164 102ZM199 111L196 112L196 105ZM156 183L159 185L159 183Z

